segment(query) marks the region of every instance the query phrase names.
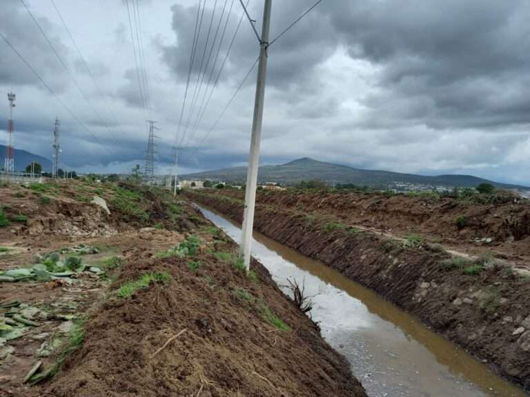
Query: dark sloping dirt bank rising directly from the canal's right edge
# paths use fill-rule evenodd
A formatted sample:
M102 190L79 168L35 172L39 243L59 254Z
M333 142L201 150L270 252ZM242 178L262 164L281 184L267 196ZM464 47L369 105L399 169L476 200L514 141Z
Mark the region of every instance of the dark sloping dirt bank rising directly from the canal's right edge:
M215 190L186 195L242 221L243 205ZM530 384L530 281L493 260L451 258L439 245L366 232L325 216L264 205L255 229L389 299L502 376Z

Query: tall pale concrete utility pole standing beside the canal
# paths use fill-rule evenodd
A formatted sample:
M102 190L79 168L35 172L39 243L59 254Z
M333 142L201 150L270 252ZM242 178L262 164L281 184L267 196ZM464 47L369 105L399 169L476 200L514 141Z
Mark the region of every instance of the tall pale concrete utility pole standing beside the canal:
M255 201L257 188L257 169L259 167L259 145L262 141L263 106L265 99L265 80L267 75L268 32L271 24L271 6L272 0L265 0L262 37L259 43L259 65L257 68L251 152L248 155L248 170L246 172L245 210L243 215L241 253L247 272L251 266L251 243L254 225L254 210L256 205Z

